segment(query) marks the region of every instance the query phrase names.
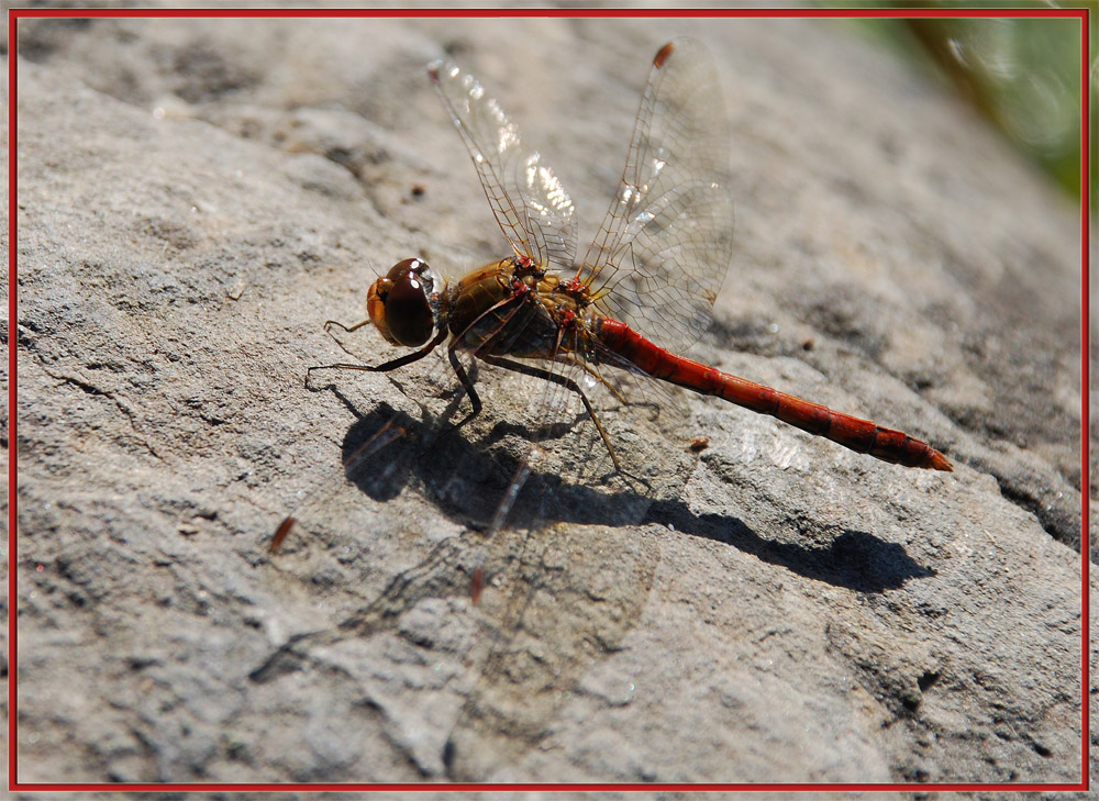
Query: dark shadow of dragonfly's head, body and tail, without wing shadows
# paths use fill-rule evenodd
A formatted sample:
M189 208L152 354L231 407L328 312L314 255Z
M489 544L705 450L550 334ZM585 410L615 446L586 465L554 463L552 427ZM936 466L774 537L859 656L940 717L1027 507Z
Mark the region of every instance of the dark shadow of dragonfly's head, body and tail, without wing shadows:
M349 401L343 399L354 411ZM481 442L471 442L462 430L432 431L432 425L381 404L358 420L344 437L347 478L376 501L388 501L410 483L448 519L471 529L487 529L499 499L519 469L520 461L503 448L492 447L499 425ZM354 465L355 455L376 441L379 432L397 429L393 437L374 453L368 465ZM354 466L354 467L353 467ZM365 469L364 469L365 467ZM652 499L632 489L570 483L556 474L532 471L512 509L510 524L530 527L544 523L629 525L657 523L693 536L726 543L764 561L818 581L858 592L884 592L935 571L915 561L897 543L869 532L842 530L826 546L786 543L761 535L742 520L720 514L695 514L678 500Z

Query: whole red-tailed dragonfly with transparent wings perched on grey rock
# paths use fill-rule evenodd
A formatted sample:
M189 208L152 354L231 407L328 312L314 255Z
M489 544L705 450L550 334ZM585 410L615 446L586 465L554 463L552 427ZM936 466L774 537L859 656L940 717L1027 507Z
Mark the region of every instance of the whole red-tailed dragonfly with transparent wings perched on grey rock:
M946 456L904 432L679 355L710 325L732 257L728 119L702 43L675 40L653 59L621 181L581 260L573 201L540 152L471 75L444 62L428 71L511 253L454 282L422 258L398 262L370 286L367 319L352 326L329 321L325 329L373 325L411 353L379 365L319 365L309 375L388 372L445 347L471 407L457 426L482 409L459 358L466 355L553 385L542 396L544 416L560 405L562 391L571 393L621 469L577 380L586 376L622 399L608 375L613 368L720 398L884 461L953 470ZM522 479L517 476L493 527L503 523Z

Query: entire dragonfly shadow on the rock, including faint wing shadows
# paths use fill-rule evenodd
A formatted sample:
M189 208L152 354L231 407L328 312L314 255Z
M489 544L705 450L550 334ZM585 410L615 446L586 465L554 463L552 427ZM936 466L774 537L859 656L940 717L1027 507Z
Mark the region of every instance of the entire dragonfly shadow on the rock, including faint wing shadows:
M550 470L532 471L509 525L486 535L497 500L520 467L500 442L530 432L507 422L479 440L460 429L439 433L435 423L386 404L356 416L344 437L343 458L348 480L360 492L385 503L412 487L440 513L473 531L440 542L335 628L292 638L252 679L262 683L303 669L317 658L317 646L401 631L404 613L426 599L456 599L469 610L477 568L495 591L486 591L473 612L482 642L463 657L476 680L452 689L459 702L448 734L439 741L437 761L415 759L428 775L482 780L514 764L545 738L555 711L581 677L622 647L641 618L659 561L657 535L639 532L632 527L636 524L674 525L863 592L933 575L901 546L864 532L847 531L826 548L807 548L767 539L735 518L697 515L667 493L654 500L659 490L637 491L621 480L575 483ZM540 435L567 436L569 429ZM629 487L611 490L608 483Z

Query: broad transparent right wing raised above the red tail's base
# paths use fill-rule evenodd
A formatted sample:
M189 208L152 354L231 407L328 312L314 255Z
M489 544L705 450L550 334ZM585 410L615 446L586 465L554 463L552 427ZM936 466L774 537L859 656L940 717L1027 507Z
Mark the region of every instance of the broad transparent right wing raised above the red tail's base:
M732 256L728 148L712 56L695 40L668 43L653 60L622 182L577 274L611 316L667 348L688 347L709 325Z

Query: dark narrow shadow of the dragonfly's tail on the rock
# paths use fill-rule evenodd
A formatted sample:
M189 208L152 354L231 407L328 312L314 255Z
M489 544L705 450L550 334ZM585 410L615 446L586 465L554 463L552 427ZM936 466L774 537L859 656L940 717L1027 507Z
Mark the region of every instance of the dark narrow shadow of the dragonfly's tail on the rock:
M857 592L896 590L912 579L935 576L897 543L863 531L843 530L825 547L807 547L759 536L743 521L720 514L692 514L678 502L657 501L650 507L647 523L728 543L773 565Z

